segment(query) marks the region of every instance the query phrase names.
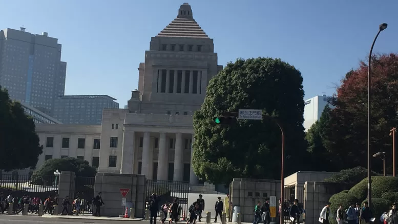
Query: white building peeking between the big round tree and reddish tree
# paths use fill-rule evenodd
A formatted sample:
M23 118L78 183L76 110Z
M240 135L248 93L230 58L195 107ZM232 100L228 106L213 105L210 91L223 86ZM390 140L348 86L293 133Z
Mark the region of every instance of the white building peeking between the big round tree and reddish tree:
M326 95L315 96L304 100L304 128L307 131L321 117L329 97Z

